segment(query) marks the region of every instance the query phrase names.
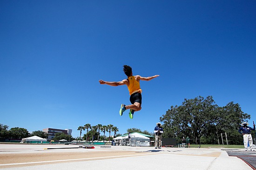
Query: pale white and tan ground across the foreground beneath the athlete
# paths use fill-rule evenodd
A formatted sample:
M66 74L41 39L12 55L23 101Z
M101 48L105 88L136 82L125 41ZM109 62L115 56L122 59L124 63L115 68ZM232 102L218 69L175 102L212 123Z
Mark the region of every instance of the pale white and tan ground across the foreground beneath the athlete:
M47 147L50 147L46 149ZM252 170L221 149L112 146L95 149L63 145L0 144L0 169L4 170Z

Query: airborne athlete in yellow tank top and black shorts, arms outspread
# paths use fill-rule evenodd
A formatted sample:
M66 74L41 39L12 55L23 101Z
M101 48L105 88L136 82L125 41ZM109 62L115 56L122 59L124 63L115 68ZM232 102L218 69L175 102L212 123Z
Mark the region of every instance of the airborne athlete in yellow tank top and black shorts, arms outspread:
M141 110L141 87L140 87L140 80L149 81L159 75L150 76L150 77L141 77L140 75L133 76L132 68L128 65L123 66L124 74L127 76L127 79L124 79L120 82L106 82L103 80L99 80L100 84L107 84L109 86L121 86L127 85L129 93L130 93L130 101L131 105L124 105L121 104L121 108L119 111L120 115L123 115L123 112L127 109L130 109L129 117L133 119L133 114L136 111Z

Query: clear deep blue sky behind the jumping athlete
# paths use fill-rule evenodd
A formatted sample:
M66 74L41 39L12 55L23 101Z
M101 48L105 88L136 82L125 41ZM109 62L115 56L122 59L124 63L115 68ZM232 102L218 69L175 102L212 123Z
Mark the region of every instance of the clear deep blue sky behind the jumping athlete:
M141 82L129 119L126 86ZM256 121L255 0L0 0L0 123L29 132L87 123L153 132L170 106L212 95ZM83 132L85 133L85 132Z

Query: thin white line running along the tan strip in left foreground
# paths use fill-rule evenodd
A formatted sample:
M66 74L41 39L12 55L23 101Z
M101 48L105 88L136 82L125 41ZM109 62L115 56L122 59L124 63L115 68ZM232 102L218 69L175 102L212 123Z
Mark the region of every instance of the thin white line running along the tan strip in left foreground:
M120 156L110 156L110 157L90 157L90 158L80 158L80 159L63 159L63 160L55 160L55 161L26 162L26 163L14 163L14 164L0 164L0 166L23 165L23 164L42 164L42 163L51 163L51 162L78 161L78 160L114 158L114 157L131 157L131 156L141 156L141 155L150 155L150 154L157 154L157 153L144 153L144 154L135 154L135 155L120 155Z

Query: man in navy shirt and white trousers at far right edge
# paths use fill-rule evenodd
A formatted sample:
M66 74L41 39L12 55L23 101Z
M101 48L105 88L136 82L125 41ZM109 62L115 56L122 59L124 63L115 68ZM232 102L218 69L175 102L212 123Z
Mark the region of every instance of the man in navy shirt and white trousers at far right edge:
M242 127L240 127L238 132L243 135L243 145L244 145L245 151L247 151L248 142L249 142L249 149L251 151L254 151L254 149L252 148L251 131L255 131L255 124L253 124L253 128L249 127L248 125L249 125L249 123L243 122L241 124Z

